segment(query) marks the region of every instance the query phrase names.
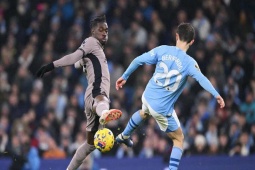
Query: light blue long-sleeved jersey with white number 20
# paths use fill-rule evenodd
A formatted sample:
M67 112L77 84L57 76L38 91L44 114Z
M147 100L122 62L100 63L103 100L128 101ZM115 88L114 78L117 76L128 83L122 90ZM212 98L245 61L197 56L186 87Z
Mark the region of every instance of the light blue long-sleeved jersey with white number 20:
M183 91L188 76L214 97L218 92L201 73L197 62L176 46L159 46L135 58L122 78L127 80L130 74L143 64L156 64L155 72L144 91L144 98L151 108L164 116L171 116L174 104Z

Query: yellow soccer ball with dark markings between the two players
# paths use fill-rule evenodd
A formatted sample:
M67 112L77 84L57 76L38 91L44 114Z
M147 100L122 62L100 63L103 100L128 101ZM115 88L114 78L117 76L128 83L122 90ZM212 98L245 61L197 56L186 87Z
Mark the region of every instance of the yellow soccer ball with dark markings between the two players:
M94 145L100 152L108 152L114 145L114 135L110 129L99 129L94 136Z

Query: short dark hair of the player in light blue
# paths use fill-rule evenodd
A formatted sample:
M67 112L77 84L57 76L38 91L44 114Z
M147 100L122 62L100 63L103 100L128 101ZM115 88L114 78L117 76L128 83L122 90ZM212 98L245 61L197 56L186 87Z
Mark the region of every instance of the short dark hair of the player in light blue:
M190 43L195 39L195 29L190 23L181 23L177 28L180 40Z

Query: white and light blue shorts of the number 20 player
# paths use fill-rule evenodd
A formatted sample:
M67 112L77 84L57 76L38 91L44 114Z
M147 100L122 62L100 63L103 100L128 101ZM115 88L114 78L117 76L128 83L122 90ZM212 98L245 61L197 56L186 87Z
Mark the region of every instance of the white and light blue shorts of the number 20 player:
M150 106L150 104L146 101L144 96L142 96L142 110L151 115L157 122L160 130L163 132L173 132L176 131L180 127L180 121L176 115L175 110L171 114L171 116L164 116L160 113L157 113L155 110L153 110Z

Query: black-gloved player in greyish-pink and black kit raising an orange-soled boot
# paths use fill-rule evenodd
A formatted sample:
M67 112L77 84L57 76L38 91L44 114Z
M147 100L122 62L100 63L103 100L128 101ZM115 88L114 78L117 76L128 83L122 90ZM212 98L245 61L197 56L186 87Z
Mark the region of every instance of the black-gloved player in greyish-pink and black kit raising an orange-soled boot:
M37 77L43 77L46 72L52 71L54 68L73 64L76 68L84 67L86 69L88 87L84 100L87 141L76 150L67 170L76 170L83 160L95 150L94 134L100 124L105 125L122 115L118 109L109 109L110 74L103 51L108 40L106 17L101 15L93 18L90 28L91 36L86 38L75 52L42 66L36 73Z

